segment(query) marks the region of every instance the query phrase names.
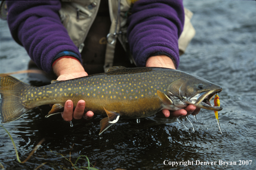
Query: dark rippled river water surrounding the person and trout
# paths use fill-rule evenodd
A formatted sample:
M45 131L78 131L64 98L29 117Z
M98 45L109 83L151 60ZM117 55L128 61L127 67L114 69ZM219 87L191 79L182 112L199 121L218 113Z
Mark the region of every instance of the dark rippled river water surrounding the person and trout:
M105 116L72 121L70 127L60 115L44 118L50 106L41 106L2 124L12 135L21 160L45 139L25 164L17 161L8 134L0 127L2 166L32 170L46 163L39 169L73 169L62 157L69 159L71 154L73 163L86 155L100 170L256 169L256 2L184 0L184 6L194 12L192 23L197 33L181 56L178 70L222 86L220 103L227 108L219 112L223 136L214 112L205 109L197 115L199 122L189 116L194 133L185 117L181 121L189 131L175 118L156 114L141 118L140 123L121 119L99 136L100 120ZM0 73L26 70L28 61L26 51L12 40L7 22L0 21ZM13 76L40 85L40 79L30 79L28 74ZM76 166L87 166L86 158L81 158ZM172 165L173 161L181 165ZM207 161L216 163L204 165Z

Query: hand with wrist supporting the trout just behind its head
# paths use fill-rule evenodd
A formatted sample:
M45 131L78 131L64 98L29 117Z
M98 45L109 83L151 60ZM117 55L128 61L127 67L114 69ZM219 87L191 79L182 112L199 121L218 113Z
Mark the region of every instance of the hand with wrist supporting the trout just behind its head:
M171 68L175 69L175 65L171 58L165 55L158 55L153 56L147 59L146 61L146 67L165 67L165 68ZM180 109L176 111L170 111L168 109L163 109L162 113L165 115L165 117L169 117L170 113L172 113L173 117L180 117L184 115L197 115L200 111L200 108L197 108L196 106L190 104L185 109Z

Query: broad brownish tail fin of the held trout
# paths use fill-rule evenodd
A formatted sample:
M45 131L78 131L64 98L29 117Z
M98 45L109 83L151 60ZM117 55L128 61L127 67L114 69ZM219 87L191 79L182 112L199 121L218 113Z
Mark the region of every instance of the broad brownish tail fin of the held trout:
M21 91L27 87L31 86L12 76L0 74L0 114L2 123L14 121L31 110L25 106L20 97Z

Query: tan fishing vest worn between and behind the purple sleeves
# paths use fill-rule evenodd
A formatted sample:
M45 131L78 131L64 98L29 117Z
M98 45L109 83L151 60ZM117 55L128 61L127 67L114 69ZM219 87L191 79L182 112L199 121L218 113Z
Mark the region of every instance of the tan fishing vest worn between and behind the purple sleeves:
M109 14L111 20L111 26L109 33L114 34L115 32L122 31L122 34L118 35L118 39L122 44L125 51L127 43L127 12L131 8L131 3L134 0L108 0L109 1ZM120 6L119 6L120 1ZM89 29L96 18L98 9L100 6L100 0L62 0L62 7L59 10L60 18L62 24L66 27L70 38L75 43L75 46L78 47L79 52L81 53L84 47L84 40L89 32ZM118 18L118 7L120 7L120 17ZM190 43L190 40L195 35L195 29L192 26L190 19L192 18L193 13L188 9L185 11L185 22L184 29L181 33L180 38L178 39L178 46L180 55L185 52L187 45ZM120 27L121 26L121 27ZM112 41L113 35L109 36L107 46L106 46L106 55L105 55L105 64L104 70L108 70L112 67L116 41ZM112 42L112 43L111 43ZM132 56L130 58L131 62L134 64Z

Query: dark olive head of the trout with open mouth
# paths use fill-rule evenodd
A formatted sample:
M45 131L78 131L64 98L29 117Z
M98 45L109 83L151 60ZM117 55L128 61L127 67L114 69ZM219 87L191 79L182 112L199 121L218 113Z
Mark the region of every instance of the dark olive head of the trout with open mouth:
M220 111L222 107L214 106L210 103L210 100L221 91L221 86L201 77L189 75L169 84L167 96L178 107L192 104L198 108Z

